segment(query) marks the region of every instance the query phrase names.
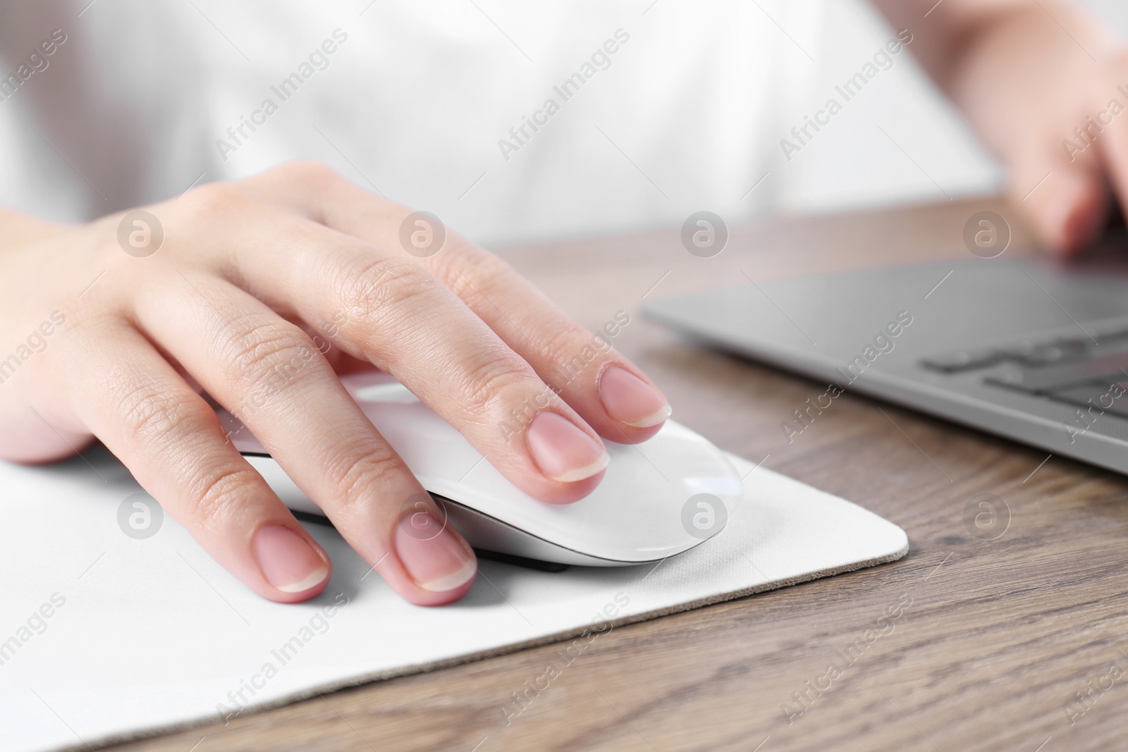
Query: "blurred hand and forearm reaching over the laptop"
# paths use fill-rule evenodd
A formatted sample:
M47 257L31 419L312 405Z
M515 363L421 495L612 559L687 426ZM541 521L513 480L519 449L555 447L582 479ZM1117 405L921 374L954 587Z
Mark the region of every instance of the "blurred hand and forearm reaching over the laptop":
M1128 202L1128 47L1068 0L876 5L1006 165L1042 242L1091 242L1112 191Z

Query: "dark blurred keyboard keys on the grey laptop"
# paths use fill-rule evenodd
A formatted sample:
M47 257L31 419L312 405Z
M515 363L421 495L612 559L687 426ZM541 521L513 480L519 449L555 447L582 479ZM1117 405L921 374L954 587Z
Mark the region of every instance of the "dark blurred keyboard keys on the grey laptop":
M1084 335L1025 340L928 357L920 364L948 374L989 371L984 381L993 387L1079 407L1096 405L1128 417L1128 328L1094 337L1096 342Z

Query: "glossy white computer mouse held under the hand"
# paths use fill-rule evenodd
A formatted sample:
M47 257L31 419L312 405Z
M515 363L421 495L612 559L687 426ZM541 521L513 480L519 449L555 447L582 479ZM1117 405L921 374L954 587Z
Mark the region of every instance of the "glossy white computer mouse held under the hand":
M607 474L587 497L547 504L506 480L462 435L382 373L342 378L475 548L543 561L628 566L658 561L708 540L742 498L740 477L703 436L672 421L642 444L606 442ZM236 448L291 510L323 515L230 414Z

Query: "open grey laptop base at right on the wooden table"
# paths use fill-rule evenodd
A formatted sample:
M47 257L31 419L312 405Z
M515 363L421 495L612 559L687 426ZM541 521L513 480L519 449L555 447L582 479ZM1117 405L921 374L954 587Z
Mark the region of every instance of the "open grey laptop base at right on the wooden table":
M649 303L690 337L810 377L781 436L857 392L1128 472L1128 242L751 282ZM1111 251L1111 253L1110 253Z

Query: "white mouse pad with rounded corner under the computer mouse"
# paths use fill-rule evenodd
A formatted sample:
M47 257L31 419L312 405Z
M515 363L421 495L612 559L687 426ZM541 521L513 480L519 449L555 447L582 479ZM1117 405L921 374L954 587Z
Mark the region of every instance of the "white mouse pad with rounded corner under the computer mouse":
M159 507L131 520L141 488L105 450L0 463L0 747L86 749L529 645L567 638L580 651L618 625L908 551L905 531L878 515L730 459L743 503L697 548L614 569L483 560L470 593L437 609L399 600L314 523L332 582L308 603L271 603Z

